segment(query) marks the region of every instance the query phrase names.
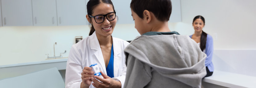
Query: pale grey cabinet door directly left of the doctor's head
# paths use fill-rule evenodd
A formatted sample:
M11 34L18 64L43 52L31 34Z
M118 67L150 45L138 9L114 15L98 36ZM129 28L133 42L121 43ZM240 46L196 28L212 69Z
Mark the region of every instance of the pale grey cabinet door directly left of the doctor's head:
M85 0L57 0L58 25L87 25Z

